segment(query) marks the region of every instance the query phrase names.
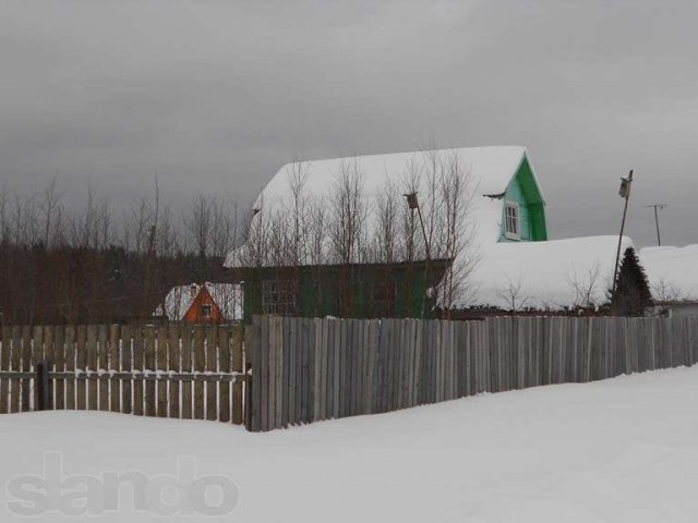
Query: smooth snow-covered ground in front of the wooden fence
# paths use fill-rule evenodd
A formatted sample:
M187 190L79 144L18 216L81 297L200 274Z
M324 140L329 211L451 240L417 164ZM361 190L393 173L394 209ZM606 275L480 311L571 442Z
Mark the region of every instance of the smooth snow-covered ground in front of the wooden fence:
M62 455L62 477L172 475L189 457L198 477L237 485L232 514L158 521L695 522L696 400L698 367L268 434L106 413L3 415L0 521L26 521L11 513L7 482L40 479L43 452L59 451L46 469L56 474ZM215 494L212 506L220 501ZM92 521L156 521L134 513L131 498L122 497L122 512ZM49 513L38 521L73 520Z

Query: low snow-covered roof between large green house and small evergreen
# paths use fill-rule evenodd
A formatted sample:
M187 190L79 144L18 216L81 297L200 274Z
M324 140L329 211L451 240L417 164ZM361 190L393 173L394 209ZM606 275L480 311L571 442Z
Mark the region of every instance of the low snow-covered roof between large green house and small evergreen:
M598 306L613 282L617 236L497 243L482 250L464 305L562 309ZM622 253L633 242L623 239Z

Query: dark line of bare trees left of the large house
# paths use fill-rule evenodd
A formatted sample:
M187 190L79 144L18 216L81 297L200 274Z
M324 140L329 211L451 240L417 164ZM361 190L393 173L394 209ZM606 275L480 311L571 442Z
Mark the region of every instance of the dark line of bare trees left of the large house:
M145 319L167 291L224 281L245 212L232 197L197 194L176 214L157 179L117 211L93 185L82 205L55 178L29 193L0 186L0 308L4 324Z

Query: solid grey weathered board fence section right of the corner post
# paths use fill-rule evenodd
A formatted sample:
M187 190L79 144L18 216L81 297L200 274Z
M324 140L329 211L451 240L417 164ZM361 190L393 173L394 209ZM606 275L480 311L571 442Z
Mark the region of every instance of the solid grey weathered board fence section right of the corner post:
M248 428L698 362L698 318L482 321L255 317Z

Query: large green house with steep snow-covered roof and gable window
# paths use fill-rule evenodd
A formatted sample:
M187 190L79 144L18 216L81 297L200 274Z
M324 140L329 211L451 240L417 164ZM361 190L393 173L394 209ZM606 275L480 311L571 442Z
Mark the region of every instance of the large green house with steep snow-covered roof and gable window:
M545 240L525 147L425 150L284 166L226 266L243 282L245 320L420 317L470 306L470 276L493 246Z

